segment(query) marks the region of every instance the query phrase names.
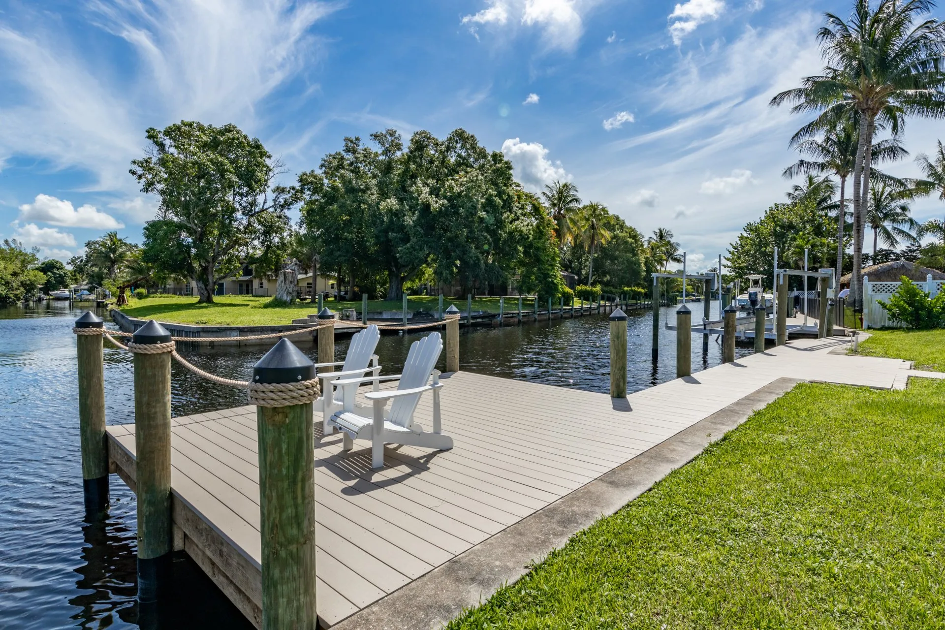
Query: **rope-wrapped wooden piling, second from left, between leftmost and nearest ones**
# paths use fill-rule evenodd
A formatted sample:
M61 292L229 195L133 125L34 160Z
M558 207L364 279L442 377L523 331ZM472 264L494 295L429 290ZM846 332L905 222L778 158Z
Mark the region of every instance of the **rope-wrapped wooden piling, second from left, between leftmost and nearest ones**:
M154 320L138 329L135 346L171 341ZM138 600L157 602L173 551L171 518L171 353L134 352L135 492L138 495Z

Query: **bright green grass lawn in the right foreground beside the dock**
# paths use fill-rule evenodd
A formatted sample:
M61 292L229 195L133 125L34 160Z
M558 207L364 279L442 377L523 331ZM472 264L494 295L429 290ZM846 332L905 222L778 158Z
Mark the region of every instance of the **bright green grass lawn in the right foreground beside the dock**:
M447 627L943 628L943 409L799 384Z

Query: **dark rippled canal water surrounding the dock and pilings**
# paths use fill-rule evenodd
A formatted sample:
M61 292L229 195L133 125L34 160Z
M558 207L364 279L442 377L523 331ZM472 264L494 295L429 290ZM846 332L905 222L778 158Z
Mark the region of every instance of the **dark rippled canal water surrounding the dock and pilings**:
M669 321L674 310L662 309L662 319ZM693 310L694 315L701 313L701 305ZM63 302L0 309L0 628L249 630L249 622L185 557L175 560L171 604L160 619L139 619L134 495L117 476L112 475L107 518L84 520L72 333L72 320L81 313ZM717 315L716 303L713 318ZM522 327L473 328L460 332L460 365L495 376L606 393L609 326L607 315L586 315ZM653 366L651 331L649 312L629 315L630 391L675 378L675 332L661 331L660 360ZM377 350L382 373L397 373L410 344L420 336L382 336ZM347 346L347 339L338 340L339 357ZM317 360L316 347L301 349ZM241 380L249 380L252 365L265 351L180 349L195 365ZM736 349L737 356L747 353L747 347ZM694 335L694 371L718 365L721 354L714 339L703 352L701 335ZM177 364L172 364L172 381L174 416L245 404L244 392L203 381ZM131 358L108 344L105 383L108 423L133 422Z

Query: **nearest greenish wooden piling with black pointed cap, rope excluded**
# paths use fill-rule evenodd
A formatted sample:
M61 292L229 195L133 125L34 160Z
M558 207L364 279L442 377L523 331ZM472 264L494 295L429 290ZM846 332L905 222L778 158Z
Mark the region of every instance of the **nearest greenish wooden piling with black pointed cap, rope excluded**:
M298 383L315 367L283 339L253 367L253 383ZM263 630L317 630L315 437L312 403L256 407Z

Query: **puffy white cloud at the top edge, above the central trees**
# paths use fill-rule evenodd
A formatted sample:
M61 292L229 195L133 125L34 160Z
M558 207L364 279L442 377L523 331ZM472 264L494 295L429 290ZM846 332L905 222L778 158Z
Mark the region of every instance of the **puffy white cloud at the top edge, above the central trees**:
M460 24L469 25L479 38L477 26L515 26L510 16L517 14L521 26L538 26L546 48L574 50L584 31L577 0L487 0L488 7L463 16ZM593 4L583 2L582 4Z

